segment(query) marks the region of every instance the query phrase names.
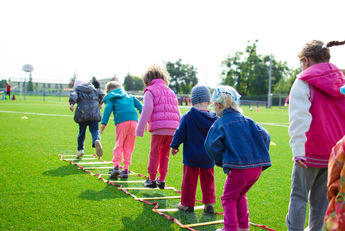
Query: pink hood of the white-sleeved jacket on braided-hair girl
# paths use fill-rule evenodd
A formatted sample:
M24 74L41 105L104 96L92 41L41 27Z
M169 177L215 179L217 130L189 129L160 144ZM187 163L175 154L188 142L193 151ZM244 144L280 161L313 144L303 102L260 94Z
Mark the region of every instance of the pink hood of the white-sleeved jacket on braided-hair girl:
M344 97L340 92L341 87L345 84L344 73L330 62L315 64L299 73L297 78L333 97Z

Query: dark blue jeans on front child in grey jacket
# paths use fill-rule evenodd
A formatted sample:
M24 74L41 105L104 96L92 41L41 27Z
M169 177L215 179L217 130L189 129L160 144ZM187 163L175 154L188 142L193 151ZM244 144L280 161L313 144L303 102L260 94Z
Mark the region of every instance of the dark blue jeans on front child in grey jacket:
M85 141L85 133L87 126L89 125L89 131L91 132L92 136L92 147L95 147L95 141L101 140L101 136L99 134L98 129L98 121L86 121L79 123L79 134L78 134L78 151L84 150L84 141Z

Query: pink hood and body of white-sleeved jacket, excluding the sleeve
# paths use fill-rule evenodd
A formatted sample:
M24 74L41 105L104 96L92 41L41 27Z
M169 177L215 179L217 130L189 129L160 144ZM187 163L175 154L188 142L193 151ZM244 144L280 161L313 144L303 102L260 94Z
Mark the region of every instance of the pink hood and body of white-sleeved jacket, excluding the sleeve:
M305 164L311 167L327 167L332 147L345 134L345 96L340 88L345 84L341 69L331 63L309 67L297 78L309 85L312 122L306 133ZM323 165L320 165L323 163Z

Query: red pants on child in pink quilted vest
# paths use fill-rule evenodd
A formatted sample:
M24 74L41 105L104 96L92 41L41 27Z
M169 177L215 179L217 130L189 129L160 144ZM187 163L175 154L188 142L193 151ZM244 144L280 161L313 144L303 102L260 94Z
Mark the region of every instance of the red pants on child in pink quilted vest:
M165 181L165 176L168 174L171 141L172 136L169 135L151 136L151 150L147 164L147 172L150 174L151 181L156 180L157 169L158 180Z

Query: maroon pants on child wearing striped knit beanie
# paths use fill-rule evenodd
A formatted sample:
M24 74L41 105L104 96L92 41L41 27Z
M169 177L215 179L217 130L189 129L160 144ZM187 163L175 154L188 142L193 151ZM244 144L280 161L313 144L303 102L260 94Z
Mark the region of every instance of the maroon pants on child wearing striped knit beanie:
M202 169L183 165L183 178L181 186L181 204L187 207L195 206L196 187L200 176L203 204L216 203L216 185L214 168Z

